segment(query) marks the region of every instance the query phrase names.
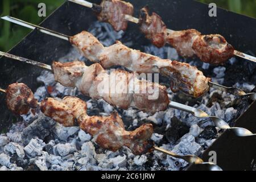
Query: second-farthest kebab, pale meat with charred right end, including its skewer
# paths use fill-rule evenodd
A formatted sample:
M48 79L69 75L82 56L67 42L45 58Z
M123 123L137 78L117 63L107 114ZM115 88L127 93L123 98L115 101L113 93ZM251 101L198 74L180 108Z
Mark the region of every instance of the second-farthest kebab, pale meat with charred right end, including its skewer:
M44 34L68 40L87 59L94 63L100 63L104 68L121 65L133 72L161 73L170 78L170 88L173 92L180 90L189 96L200 97L208 92L209 86L211 86L236 96L249 96L251 100L256 100L256 93L245 93L239 88L216 84L210 81L210 78L205 77L203 72L187 63L160 59L160 57L126 47L118 41L112 46L104 47L97 38L86 31L75 36L68 36L10 16L1 18L31 29L37 28Z

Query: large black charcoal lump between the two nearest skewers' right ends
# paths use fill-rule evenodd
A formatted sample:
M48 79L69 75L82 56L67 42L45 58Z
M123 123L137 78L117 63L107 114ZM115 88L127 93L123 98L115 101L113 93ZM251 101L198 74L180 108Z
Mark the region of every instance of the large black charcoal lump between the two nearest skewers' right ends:
M171 127L166 131L166 138L170 143L176 143L184 134L189 132L189 127L176 117L171 119Z

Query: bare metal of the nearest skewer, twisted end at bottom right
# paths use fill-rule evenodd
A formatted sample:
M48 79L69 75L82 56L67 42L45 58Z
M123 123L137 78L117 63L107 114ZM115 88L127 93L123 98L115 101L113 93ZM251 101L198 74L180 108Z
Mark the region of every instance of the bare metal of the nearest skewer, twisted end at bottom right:
M7 91L5 89L0 88L0 92L6 93ZM177 159L183 159L189 164L203 164L205 169L207 169L209 171L222 171L222 169L220 167L218 167L216 164L214 164L214 163L205 163L203 161L203 159L199 158L196 155L177 155L174 152L164 150L163 148L160 148L160 147L157 147L157 146L153 146L153 148L154 148L154 150L156 150L158 152L162 152L163 154L170 155L170 156L172 156L174 158L177 158Z

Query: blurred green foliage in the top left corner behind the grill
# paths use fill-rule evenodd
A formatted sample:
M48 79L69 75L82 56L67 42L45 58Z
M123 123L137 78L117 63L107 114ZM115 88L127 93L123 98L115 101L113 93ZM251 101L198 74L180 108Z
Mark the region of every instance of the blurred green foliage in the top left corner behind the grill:
M38 16L38 4L41 2L46 3L46 15L48 16L64 0L1 0L0 15L11 15L27 22L39 24L45 18ZM0 20L0 50L8 51L30 31L28 28Z

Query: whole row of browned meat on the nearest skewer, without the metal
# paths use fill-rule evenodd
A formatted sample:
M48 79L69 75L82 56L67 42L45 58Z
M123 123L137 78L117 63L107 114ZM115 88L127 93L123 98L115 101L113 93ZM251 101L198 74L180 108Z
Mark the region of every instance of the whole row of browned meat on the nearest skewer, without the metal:
M126 131L116 112L109 117L89 117L86 114L86 102L76 97L64 97L63 100L46 98L39 103L30 88L22 83L11 84L6 94L7 106L14 113L27 114L28 108L40 107L44 115L65 127L79 125L82 130L92 135L102 148L117 151L122 146L127 146L135 155L154 149L154 142L150 140L153 133L151 124L144 124L134 131Z

